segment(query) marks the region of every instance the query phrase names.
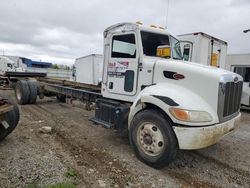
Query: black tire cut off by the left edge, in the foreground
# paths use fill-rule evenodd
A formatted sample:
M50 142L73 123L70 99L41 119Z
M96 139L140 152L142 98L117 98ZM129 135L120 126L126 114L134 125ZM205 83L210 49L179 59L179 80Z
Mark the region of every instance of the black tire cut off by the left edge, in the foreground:
M1 98L4 98L8 103L13 105L13 109L3 115L4 120L9 124L8 128L5 128L0 124L0 141L3 140L8 134L10 134L17 126L20 119L20 112L16 102L4 94L0 94Z

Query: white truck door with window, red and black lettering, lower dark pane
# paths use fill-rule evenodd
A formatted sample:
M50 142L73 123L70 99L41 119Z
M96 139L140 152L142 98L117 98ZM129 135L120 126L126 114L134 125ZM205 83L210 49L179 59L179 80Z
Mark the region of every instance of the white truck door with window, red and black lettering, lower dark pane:
M108 92L135 95L137 89L138 50L134 32L112 36L107 68Z

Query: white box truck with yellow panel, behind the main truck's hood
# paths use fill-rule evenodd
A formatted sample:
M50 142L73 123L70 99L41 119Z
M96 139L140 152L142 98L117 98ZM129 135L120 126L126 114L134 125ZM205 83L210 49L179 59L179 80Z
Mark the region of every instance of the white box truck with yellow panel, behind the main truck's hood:
M184 61L225 67L227 42L202 32L178 35L178 39Z

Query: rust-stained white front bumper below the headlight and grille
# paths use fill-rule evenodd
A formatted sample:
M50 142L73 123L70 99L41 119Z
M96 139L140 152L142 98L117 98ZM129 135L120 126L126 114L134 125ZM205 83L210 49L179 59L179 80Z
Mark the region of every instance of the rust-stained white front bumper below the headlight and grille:
M240 125L241 114L221 124L207 127L177 127L174 132L180 149L201 149L217 143L223 136L233 132Z

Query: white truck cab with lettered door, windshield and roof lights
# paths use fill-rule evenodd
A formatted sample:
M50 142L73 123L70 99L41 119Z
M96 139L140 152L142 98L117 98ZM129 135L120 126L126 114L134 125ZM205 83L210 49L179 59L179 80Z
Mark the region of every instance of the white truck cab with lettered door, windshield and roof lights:
M104 97L133 102L153 84L157 51L164 49L165 58L182 60L179 41L163 29L127 23L111 26L104 35Z

